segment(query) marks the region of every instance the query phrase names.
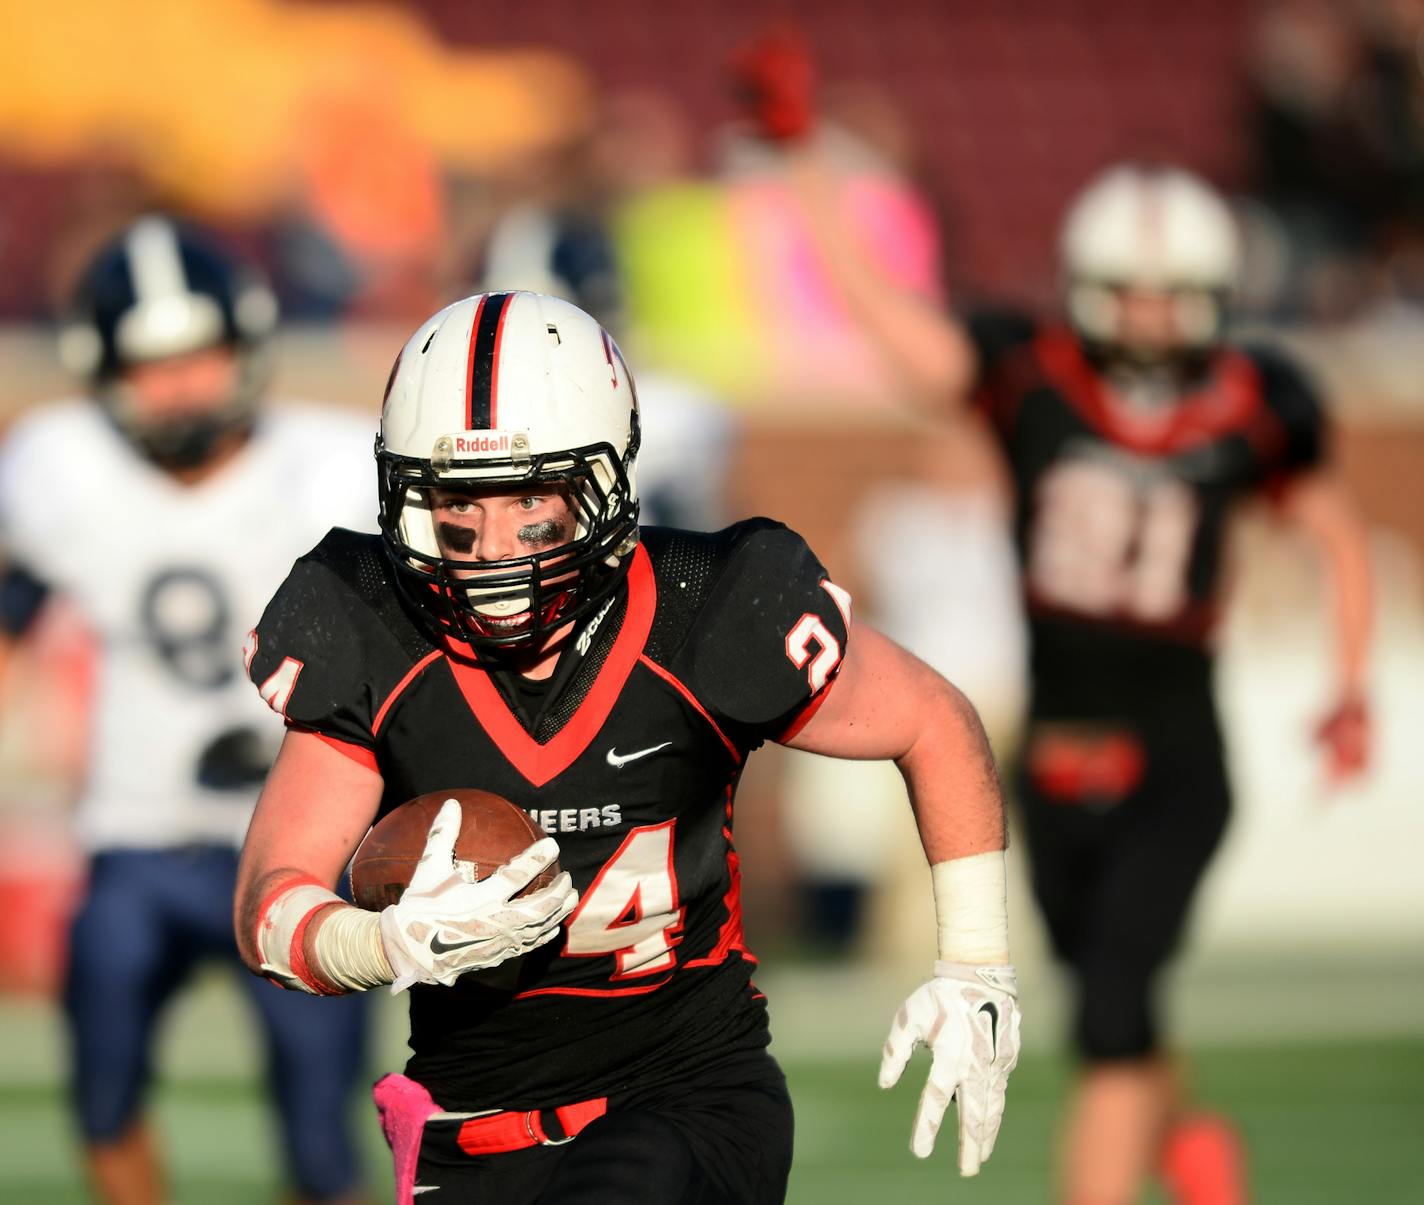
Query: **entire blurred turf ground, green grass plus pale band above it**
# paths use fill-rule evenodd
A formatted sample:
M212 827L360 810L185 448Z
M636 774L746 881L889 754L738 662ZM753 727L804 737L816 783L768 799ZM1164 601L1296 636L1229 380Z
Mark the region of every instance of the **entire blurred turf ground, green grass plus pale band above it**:
M893 1091L876 1087L883 1026L913 971L783 960L759 976L796 1101L795 1205L1049 1205L1069 1073L1055 1053L1065 996L1047 967L1021 970L1031 1023L1004 1132L978 1179L963 1182L948 1149L927 1164L909 1151L926 1055ZM1257 1205L1424 1201L1424 963L1398 951L1354 961L1198 959L1173 998L1175 1030L1195 1053L1196 1095L1246 1134ZM397 1068L403 1001L379 993L373 1004L372 1067ZM253 1083L259 1047L231 977L216 969L199 976L167 1018L159 1047L158 1121L174 1205L275 1205L272 1132ZM0 998L0 1205L87 1199L58 1088L63 1065L56 1010ZM375 1110L359 1118L375 1199L389 1201Z

